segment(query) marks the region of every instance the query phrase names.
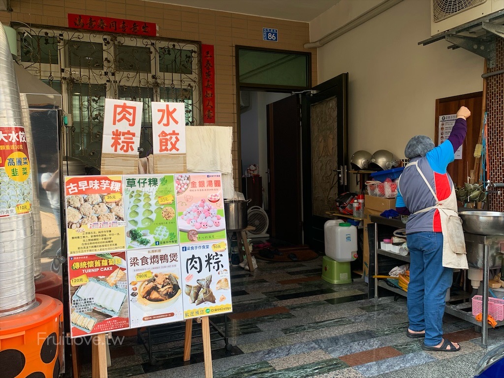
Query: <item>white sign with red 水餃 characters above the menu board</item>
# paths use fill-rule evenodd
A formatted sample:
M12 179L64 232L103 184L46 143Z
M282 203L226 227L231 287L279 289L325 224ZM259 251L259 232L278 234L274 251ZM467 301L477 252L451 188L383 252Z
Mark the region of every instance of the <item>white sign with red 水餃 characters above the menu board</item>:
M185 104L151 102L154 154L185 154Z

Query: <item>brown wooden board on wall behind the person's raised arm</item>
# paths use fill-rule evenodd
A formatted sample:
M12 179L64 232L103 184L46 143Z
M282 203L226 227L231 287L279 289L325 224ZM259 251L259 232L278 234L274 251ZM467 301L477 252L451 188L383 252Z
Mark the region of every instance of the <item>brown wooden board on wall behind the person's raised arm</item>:
M471 176L471 170L474 168L474 148L478 143L481 131L481 107L483 101L483 92L469 93L461 96L439 98L436 100L435 114L435 133L434 144L439 141L439 116L456 114L461 106L467 107L471 111L471 116L467 119L467 136L462 145L462 159L456 159L448 165L448 173L452 176L456 186L461 186L467 182L467 177ZM481 159L478 159L478 164ZM475 177L476 182L479 177Z

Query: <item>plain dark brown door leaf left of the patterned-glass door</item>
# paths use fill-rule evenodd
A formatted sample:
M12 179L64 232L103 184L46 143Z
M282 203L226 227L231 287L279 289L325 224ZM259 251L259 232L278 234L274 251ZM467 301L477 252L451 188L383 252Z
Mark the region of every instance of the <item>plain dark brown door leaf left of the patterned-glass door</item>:
M270 235L302 241L301 125L297 95L268 104L268 201Z

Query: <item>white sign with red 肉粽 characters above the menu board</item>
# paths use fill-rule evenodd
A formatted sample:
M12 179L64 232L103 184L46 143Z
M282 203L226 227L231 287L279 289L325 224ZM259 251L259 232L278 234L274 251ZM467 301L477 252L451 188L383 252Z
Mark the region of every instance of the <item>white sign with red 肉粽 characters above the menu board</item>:
M102 152L138 155L143 102L105 99Z

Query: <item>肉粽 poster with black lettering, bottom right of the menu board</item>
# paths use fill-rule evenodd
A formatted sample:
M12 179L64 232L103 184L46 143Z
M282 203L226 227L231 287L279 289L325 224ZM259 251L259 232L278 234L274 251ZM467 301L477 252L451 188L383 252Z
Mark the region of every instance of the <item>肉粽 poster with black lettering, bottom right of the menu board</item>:
M229 259L225 241L180 246L184 319L231 312Z

